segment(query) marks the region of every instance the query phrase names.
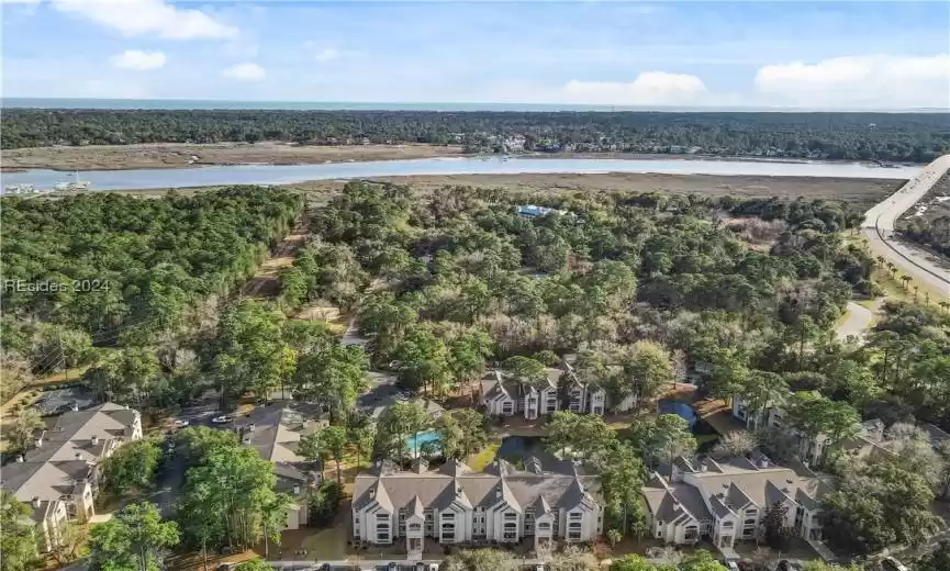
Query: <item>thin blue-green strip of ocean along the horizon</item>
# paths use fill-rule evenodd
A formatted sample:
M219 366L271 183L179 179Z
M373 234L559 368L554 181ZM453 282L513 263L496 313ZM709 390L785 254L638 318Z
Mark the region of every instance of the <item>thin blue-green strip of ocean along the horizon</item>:
M627 107L560 103L354 102L354 101L230 101L215 99L65 99L0 98L3 109L98 110L283 110L283 111L510 111L510 112L657 112L657 113L947 113L948 109L792 109L713 107Z

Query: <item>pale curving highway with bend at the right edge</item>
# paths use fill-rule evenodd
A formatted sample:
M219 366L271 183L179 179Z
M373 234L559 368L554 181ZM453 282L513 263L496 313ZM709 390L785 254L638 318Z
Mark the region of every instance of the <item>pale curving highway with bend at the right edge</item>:
M868 245L875 255L884 256L902 273L910 276L914 279L912 284L926 284L945 296L950 296L950 264L936 254L906 240L898 240L894 235L894 222L924 198L948 170L950 155L937 158L897 192L871 208L864 214L864 223L861 225Z

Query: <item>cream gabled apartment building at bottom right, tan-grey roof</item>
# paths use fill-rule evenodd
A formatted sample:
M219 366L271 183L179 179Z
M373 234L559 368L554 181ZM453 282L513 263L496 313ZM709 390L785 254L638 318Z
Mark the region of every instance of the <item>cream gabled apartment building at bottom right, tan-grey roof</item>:
M696 463L678 458L668 475L653 472L642 495L652 537L677 545L705 539L731 549L736 540L755 539L765 514L776 507L786 510L786 529L820 539L820 499L828 491L813 473L802 475L753 455Z

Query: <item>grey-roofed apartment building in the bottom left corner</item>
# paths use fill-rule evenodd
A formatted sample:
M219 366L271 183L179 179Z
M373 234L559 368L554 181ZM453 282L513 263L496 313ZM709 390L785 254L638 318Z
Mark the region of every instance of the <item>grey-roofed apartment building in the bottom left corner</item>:
M138 411L100 404L49 419L35 433L33 448L3 467L3 489L33 507L41 551L57 545L65 522L86 523L96 515L102 461L139 438Z

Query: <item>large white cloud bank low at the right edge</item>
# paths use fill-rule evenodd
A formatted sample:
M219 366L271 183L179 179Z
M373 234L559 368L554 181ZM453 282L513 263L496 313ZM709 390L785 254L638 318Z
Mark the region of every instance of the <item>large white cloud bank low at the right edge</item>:
M759 69L767 104L845 109L950 107L950 55L836 57Z

